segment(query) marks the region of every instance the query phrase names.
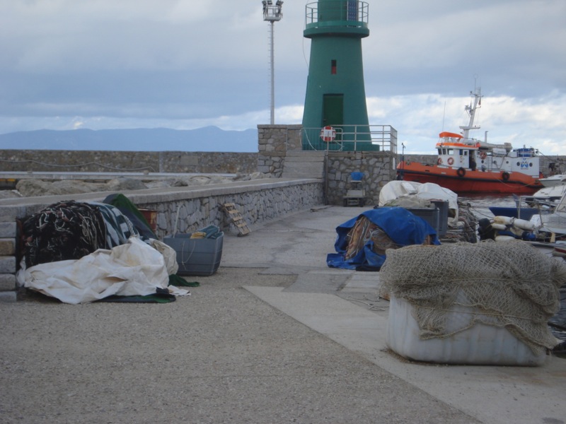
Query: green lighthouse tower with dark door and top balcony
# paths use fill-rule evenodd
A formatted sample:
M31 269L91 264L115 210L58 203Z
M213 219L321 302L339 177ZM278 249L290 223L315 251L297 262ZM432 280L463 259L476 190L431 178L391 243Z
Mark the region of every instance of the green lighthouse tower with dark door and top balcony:
M330 144L331 150L354 150L353 141L371 139L362 64L368 13L365 1L319 0L306 5L303 35L311 39L311 59L303 114L304 150L312 148L313 139L319 141L318 133L325 126L336 129L342 141L341 146ZM363 144L363 150L379 149Z

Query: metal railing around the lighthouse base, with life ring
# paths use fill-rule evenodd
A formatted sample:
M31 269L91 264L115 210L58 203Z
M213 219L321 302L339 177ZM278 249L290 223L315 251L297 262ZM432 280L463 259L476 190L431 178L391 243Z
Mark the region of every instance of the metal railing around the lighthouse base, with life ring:
M328 134L334 135L329 137ZM391 125L368 124L303 128L301 143L306 151L388 151L397 154L397 130Z

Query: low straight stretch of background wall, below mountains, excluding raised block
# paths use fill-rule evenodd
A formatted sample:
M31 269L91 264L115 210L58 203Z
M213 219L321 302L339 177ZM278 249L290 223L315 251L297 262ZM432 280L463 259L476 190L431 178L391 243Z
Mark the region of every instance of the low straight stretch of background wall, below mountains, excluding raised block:
M250 174L258 153L0 150L2 172L187 172Z

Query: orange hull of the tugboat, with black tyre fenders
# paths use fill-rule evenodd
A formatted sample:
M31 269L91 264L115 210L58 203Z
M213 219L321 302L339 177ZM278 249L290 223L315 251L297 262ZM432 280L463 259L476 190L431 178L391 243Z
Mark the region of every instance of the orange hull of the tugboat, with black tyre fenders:
M463 193L533 194L543 188L538 179L521 172L483 172L454 167L401 162L397 173L405 181L432 182L440 187Z

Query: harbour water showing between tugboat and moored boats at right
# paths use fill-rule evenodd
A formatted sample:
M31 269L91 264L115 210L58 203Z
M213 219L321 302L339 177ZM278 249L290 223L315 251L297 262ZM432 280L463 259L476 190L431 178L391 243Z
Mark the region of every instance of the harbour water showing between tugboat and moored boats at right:
M481 218L493 218L490 206L516 206L513 196L509 194L475 194L458 196L458 199L470 204L470 211L478 220ZM562 329L559 329L555 326L549 326L550 331L552 331L556 338L566 341L566 285L563 285L562 288L560 288L560 311L555 314L550 321L562 327Z

